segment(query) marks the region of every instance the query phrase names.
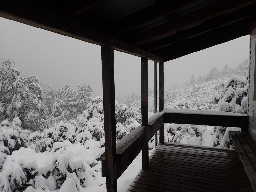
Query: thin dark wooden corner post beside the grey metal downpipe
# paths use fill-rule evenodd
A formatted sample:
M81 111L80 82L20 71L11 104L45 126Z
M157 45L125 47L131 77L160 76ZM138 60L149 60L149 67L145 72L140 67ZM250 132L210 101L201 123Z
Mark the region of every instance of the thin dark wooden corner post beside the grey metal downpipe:
M159 63L159 111L164 109L164 63ZM164 143L164 125L159 129L159 142Z

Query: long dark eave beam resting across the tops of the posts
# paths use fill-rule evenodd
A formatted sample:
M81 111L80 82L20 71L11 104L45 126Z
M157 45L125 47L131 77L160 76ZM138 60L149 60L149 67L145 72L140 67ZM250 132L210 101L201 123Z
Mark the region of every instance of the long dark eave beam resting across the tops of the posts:
M108 44L108 35L24 0L15 1L15 6L11 1L4 1L0 6L0 17L92 44L100 46ZM114 49L139 57L147 56L146 51L117 39L114 39ZM148 59L163 61L152 53L148 54Z

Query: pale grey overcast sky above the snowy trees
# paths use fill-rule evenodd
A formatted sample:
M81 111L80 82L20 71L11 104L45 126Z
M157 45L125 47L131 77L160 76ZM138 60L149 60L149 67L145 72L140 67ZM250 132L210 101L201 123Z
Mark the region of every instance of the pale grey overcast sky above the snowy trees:
M0 61L11 57L25 76L36 75L43 86L58 89L67 81L91 84L102 95L100 46L55 34L0 17ZM213 66L235 67L248 58L249 36L244 36L164 64L164 88L182 84L194 73L205 75ZM114 52L116 96L140 94L140 58ZM153 61L149 61L149 87L153 88Z

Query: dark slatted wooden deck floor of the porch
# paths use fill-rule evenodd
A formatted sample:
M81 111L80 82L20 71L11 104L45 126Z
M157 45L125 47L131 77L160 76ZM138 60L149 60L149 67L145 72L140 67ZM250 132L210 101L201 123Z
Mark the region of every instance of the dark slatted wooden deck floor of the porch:
M158 144L127 191L253 191L236 150Z

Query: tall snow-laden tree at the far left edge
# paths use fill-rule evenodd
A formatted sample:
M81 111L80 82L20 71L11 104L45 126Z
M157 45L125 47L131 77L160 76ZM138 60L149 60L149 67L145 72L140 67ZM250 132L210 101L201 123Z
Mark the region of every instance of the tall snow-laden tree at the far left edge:
M48 110L43 91L36 76L21 77L20 71L11 68L12 59L0 67L0 121L19 117L21 125L31 131L47 127L44 119Z

